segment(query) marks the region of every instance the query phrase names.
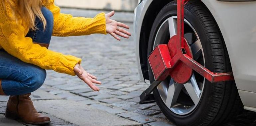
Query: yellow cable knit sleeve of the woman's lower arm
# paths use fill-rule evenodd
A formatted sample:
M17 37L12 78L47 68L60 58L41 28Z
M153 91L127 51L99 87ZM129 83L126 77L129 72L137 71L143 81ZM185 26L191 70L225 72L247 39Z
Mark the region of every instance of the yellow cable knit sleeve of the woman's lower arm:
M1 18L6 18L1 13ZM1 19L1 20L2 20ZM75 75L73 67L81 59L71 55L48 50L39 44L34 44L30 37L25 37L22 21L4 21L1 25L0 45L11 55L26 63L37 65L43 69L52 69L60 73Z

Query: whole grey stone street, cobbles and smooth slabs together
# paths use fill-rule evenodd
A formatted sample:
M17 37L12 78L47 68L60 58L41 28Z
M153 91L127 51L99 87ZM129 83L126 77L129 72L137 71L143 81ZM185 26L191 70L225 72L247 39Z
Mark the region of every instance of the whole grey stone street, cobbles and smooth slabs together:
M89 17L98 13L75 9L63 11ZM133 32L132 16L132 13L117 13L114 19L128 22L129 31ZM139 81L133 37L122 41L102 34L53 37L50 49L82 58L81 65L97 76L102 85L100 92L93 92L77 77L47 70L44 85L33 93L32 99L40 112L51 117L49 125L174 126L156 103L138 103L139 95L149 83ZM0 126L27 125L4 118L7 98L0 96Z

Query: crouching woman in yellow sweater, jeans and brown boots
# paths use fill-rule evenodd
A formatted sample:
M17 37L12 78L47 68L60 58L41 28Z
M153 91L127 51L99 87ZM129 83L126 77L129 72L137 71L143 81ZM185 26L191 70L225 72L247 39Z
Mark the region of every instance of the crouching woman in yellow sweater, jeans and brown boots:
M80 65L81 59L48 50L51 36L111 34L129 38L125 24L111 20L114 11L94 18L60 13L54 0L1 0L0 2L0 95L10 95L6 117L30 124L45 124L50 118L36 111L31 92L42 86L46 69L77 75L91 89L101 84Z

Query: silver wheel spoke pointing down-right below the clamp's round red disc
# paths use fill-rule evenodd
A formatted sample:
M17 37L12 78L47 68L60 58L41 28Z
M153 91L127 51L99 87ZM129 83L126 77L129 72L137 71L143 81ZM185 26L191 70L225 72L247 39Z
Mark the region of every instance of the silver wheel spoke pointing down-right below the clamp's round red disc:
M184 87L190 95L191 99L193 100L194 104L197 104L199 102L201 90L196 83L194 74L192 75L190 81L184 84Z

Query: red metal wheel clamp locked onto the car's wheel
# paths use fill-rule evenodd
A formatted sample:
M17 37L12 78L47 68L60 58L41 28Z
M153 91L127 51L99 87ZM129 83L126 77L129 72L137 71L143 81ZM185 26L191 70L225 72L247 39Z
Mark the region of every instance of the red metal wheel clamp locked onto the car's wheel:
M177 35L172 36L168 44L157 45L148 57L155 81L140 95L140 104L154 102L151 92L168 76L179 84L187 83L193 71L211 83L234 80L232 72L214 73L193 59L191 48L184 38L185 1L188 2L177 1Z

